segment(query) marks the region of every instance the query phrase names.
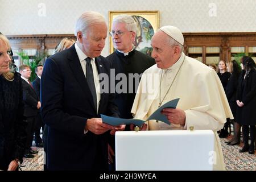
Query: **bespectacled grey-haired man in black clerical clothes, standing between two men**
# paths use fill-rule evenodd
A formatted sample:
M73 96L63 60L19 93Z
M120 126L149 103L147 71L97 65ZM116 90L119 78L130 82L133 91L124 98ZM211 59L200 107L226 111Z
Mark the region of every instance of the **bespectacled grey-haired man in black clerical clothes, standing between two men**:
M119 15L113 19L110 35L115 51L106 59L112 62L112 71L115 73L115 104L120 111L120 118L126 119L133 118L131 107L142 73L155 64L152 57L135 50L133 47L136 34L137 24L131 16ZM126 130L129 130L129 126L126 126ZM114 137L112 138L113 143L110 145L114 148ZM112 159L109 163L113 162Z

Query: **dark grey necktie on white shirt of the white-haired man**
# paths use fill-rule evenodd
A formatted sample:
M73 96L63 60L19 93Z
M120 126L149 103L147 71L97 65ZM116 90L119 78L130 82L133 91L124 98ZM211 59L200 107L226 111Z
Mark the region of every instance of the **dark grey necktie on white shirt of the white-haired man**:
M92 64L90 64L91 58L87 57L85 60L86 60L86 80L90 88L90 92L92 93L92 96L93 96L93 104L95 106L95 109L97 110L97 96L96 96L96 89L94 85L93 69L92 69Z

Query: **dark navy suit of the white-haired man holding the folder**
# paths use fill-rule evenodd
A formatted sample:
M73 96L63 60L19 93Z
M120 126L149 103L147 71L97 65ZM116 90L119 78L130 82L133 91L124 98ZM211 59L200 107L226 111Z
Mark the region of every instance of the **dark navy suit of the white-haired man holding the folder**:
M110 63L96 57L98 73L110 76ZM110 88L109 88L110 90ZM101 93L98 114L75 45L46 60L41 80L42 118L49 126L49 170L108 169L109 131L84 134L86 120L100 114L118 117L114 94ZM101 168L98 168L101 166Z

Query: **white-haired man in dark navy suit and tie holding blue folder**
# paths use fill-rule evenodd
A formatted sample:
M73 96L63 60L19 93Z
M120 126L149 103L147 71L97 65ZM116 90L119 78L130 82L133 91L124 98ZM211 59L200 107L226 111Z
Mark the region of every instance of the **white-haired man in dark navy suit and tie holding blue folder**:
M104 17L88 11L75 27L77 42L49 57L41 81L42 118L49 126L48 170L108 170L108 136L113 126L100 114L118 117L114 94L101 93L99 74L110 76L100 56L107 38Z

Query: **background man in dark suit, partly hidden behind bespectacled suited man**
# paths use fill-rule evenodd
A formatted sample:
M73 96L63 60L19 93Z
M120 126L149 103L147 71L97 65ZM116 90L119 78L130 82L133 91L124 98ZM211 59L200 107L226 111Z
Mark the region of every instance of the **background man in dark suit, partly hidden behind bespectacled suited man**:
M36 91L36 94L38 95L38 98L40 99L40 81L41 81L41 76L43 73L43 65L41 65L41 64L37 65L35 68L35 73L38 77L32 82L32 85ZM43 147L43 140L40 137L41 127L44 131L44 123L42 122L41 111L39 109L38 114L36 115L36 126L35 126L36 147Z

